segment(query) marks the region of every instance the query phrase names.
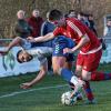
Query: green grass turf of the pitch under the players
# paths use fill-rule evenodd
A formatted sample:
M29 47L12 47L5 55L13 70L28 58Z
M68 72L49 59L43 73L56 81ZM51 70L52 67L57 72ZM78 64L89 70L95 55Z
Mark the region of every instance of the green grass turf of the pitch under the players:
M100 65L99 70L111 72L111 63ZM19 84L30 81L36 73L26 75L9 77L0 79L0 97L12 92L27 91L19 88ZM77 102L75 105L62 105L60 97L69 87L48 88L65 84L58 75L47 75L32 89L34 91L19 93L12 97L0 98L0 111L111 111L111 81L91 82L97 104L83 104L84 101ZM48 88L38 90L40 88Z

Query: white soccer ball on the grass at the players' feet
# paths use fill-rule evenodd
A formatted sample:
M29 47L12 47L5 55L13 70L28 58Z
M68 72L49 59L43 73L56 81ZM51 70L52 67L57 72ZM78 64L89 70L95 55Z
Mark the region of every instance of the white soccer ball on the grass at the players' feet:
M71 91L62 93L62 95L61 95L61 102L62 102L62 104L65 104L65 105L75 104L77 97L71 98L71 93L72 93Z

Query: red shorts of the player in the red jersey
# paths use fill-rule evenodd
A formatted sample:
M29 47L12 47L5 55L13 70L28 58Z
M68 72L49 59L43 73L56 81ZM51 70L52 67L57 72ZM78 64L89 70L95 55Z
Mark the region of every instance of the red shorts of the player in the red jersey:
M78 54L77 65L83 67L83 70L92 72L95 71L99 67L100 59L102 56L102 50L90 54Z

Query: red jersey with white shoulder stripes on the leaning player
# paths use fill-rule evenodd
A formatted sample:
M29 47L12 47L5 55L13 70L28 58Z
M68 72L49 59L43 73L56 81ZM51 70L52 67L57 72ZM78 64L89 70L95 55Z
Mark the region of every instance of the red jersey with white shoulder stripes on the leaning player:
M81 48L81 51L84 53L100 47L100 41L97 36L81 21L72 18L67 19L65 21L65 27L59 27L53 31L54 36L62 34L68 38L71 38L77 43L79 43L81 38L83 38L83 36L85 34L90 39L90 41Z

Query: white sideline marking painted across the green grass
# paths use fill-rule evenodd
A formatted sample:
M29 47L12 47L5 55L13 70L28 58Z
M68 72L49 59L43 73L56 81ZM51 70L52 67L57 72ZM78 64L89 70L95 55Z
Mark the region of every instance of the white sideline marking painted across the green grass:
M40 91L40 90L61 88L61 87L65 87L65 85L68 85L68 84L56 85L56 87L43 87L43 88L31 89L31 90L26 90L26 91L17 91L17 92L12 92L12 93L9 93L9 94L0 95L0 99L8 98L8 97L13 97L13 95L21 94L21 93L32 92L32 91Z

